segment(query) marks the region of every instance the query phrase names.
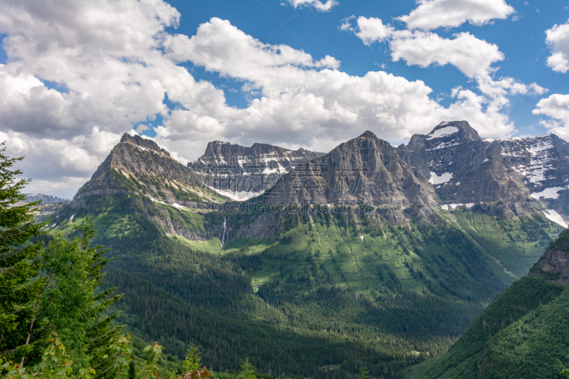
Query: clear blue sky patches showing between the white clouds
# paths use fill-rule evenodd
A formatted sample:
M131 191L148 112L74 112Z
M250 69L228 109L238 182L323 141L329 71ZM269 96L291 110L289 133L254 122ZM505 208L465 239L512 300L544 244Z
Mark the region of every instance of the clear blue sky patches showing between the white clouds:
M368 71L380 69L408 80L422 80L432 88L432 97L440 98L442 105L451 102L450 91L457 85L475 87L452 65L432 65L420 68L407 65L405 61L393 62L387 43L375 43L365 46L353 35L341 31L341 20L355 15L381 18L385 23L392 23L395 28L404 29L405 23L393 21L393 18L409 14L417 7L415 1L340 1L330 11L322 12L314 8L294 8L285 1L169 1L181 13L181 23L173 33L192 36L201 23L212 17L229 20L240 30L264 43L285 44L310 53L316 60L331 55L341 60L340 69L350 75L365 75ZM527 4L524 4L527 3ZM284 5L283 5L284 4ZM454 33L467 31L477 38L499 46L505 59L494 66L499 66L495 76L508 76L521 82L536 82L549 91L541 96L519 95L511 97L511 105L506 110L516 122L514 135L538 135L547 132L539 122L541 117L532 114L536 102L549 93L567 94L569 77L555 73L546 65L546 58L551 55L546 46L545 31L554 24L568 21L567 1L508 1L514 6L517 16L496 19L484 26L472 26L463 23L458 28L440 28L437 34L452 38ZM284 24L284 26L283 26ZM192 67L193 65L188 65ZM235 92L226 92L228 104L245 108L250 96L240 91L243 84L237 80L220 78L217 73L208 73L203 68L191 70L196 78L211 80L217 85Z

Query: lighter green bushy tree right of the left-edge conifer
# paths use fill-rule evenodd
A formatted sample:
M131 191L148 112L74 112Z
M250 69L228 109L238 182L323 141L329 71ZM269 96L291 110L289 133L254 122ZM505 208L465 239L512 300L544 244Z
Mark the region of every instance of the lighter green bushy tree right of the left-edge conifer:
M68 346L68 354L76 367L92 367L97 375L114 376L116 354L110 346L122 326L113 326L118 314L107 316L107 307L120 298L112 296L115 288L96 294L109 262L102 257L101 246L90 247L95 236L92 220L86 218L75 226L80 234L73 240L55 235L43 252L43 279L46 289L41 303L49 320Z

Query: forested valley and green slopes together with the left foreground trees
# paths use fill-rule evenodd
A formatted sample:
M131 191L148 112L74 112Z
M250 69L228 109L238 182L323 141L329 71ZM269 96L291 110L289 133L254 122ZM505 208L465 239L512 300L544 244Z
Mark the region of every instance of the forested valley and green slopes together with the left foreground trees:
M307 208L280 216L276 242L221 246L167 235L148 214L194 230L250 215L125 194L63 208L47 233L36 203L18 205L25 181L3 159L7 378L404 378L445 353L560 230L476 208L410 227L378 223L373 209Z

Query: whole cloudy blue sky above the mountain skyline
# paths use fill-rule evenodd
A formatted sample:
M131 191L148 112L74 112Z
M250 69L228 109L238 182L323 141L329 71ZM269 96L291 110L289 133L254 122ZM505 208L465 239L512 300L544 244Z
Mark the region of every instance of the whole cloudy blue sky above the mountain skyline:
M569 139L567 1L0 0L0 139L73 196L122 134L329 151L441 121ZM31 188L31 191L40 191Z

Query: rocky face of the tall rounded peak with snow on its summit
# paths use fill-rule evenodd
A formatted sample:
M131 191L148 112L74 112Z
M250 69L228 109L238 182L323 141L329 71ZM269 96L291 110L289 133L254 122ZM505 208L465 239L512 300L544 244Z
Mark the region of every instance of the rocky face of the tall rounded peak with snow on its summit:
M442 203L525 201L529 191L500 150L485 143L466 121L441 122L415 134L400 155L415 175L435 187Z

